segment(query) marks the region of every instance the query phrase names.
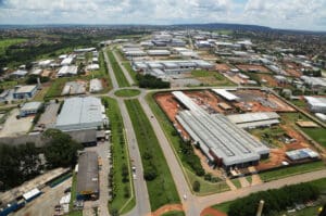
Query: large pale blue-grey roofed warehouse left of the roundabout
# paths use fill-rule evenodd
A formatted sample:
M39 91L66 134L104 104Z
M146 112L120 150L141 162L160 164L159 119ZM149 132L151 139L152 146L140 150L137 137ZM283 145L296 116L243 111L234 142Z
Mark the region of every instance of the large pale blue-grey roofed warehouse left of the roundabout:
M101 100L93 97L68 98L57 118L55 128L70 130L97 129L103 126Z

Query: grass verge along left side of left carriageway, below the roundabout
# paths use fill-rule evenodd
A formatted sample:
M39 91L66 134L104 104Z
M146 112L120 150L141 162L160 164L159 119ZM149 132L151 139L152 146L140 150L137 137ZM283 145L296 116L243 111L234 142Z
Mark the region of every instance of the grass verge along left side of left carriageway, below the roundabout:
M113 191L115 196L112 202L109 202L109 208L117 209L121 214L126 213L135 206L135 196L129 201L130 194L133 194L134 188L130 177L130 163L127 150L127 143L125 142L124 125L120 113L118 104L116 100L111 98L103 98L109 103L106 109L106 115L111 123L111 143L112 143L112 160L113 160ZM129 178L123 181L122 169L123 166L128 167ZM125 189L127 188L127 189ZM129 191L129 195L125 194L125 190ZM125 205L128 202L127 205Z

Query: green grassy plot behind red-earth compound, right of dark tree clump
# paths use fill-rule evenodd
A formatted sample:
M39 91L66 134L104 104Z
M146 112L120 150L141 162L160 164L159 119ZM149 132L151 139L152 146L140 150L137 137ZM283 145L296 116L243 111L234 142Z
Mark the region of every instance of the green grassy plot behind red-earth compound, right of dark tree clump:
M234 82L218 72L195 69L191 72L191 76L201 81L204 86L235 86Z

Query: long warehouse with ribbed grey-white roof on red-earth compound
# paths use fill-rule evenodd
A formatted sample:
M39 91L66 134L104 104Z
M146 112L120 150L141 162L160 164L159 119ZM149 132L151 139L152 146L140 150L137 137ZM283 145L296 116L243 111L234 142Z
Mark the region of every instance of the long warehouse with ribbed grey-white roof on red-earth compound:
M174 97L188 110L176 116L210 162L229 170L258 165L269 149L222 114L210 115L181 91Z

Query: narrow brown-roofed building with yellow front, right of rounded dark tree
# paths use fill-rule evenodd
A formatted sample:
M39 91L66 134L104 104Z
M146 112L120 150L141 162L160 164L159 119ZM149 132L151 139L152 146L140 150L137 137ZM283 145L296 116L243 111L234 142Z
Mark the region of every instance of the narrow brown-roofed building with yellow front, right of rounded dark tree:
M99 161L96 152L83 152L78 158L77 200L99 198Z

